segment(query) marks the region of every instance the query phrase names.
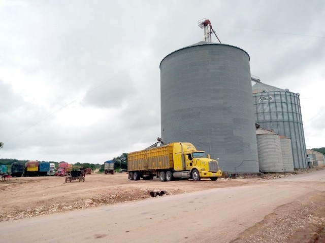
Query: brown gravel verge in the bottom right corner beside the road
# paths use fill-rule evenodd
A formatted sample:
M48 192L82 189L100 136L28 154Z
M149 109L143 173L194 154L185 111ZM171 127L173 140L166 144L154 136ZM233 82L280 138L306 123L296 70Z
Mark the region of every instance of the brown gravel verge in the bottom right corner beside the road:
M325 242L324 193L317 193L283 205L232 243Z

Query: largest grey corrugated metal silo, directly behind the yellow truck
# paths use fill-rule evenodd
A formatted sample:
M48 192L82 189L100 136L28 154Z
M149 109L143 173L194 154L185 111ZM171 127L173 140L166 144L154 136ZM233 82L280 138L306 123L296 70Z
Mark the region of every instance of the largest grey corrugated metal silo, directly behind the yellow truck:
M227 172L258 172L249 56L209 44L175 51L160 63L161 136L191 142Z

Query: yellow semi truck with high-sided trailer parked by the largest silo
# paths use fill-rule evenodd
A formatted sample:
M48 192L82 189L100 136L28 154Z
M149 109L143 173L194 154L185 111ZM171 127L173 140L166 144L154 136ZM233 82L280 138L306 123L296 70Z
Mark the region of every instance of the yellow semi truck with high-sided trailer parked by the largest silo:
M221 177L218 161L206 157L204 151L197 150L188 142L175 142L160 147L148 148L127 154L129 180L153 179L172 181L188 178L200 181Z

